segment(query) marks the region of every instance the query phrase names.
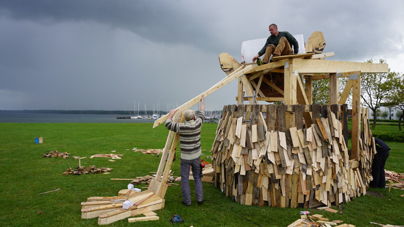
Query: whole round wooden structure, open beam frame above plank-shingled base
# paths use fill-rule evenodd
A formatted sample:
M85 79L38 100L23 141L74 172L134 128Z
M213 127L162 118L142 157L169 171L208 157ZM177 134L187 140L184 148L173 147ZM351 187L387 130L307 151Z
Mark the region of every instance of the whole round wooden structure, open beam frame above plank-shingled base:
M326 55L276 57L275 62L256 66L238 78L238 105L223 109L212 147L214 183L224 194L246 205L312 207L349 201L366 192L375 149L369 109L360 106L361 73L385 73L388 66L314 60ZM349 79L339 98L341 77ZM329 79L330 92L330 105L321 108L312 105L312 83L319 79ZM345 102L351 91L352 109L348 110ZM244 100L250 105L243 105ZM258 101L283 101L284 105L258 105ZM352 118L350 154L348 115ZM322 133L321 140L308 136ZM300 143L292 143L293 138ZM328 168L318 168L320 163L328 163Z

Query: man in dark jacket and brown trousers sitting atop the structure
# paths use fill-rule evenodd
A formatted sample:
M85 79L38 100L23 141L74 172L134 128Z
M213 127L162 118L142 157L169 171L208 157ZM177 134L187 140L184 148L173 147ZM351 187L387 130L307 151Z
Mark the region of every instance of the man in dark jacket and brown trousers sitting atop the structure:
M271 24L269 26L269 32L271 35L268 37L267 42L260 52L252 58L252 62L257 60L257 65L261 66L268 62L272 62L271 55L291 55L293 54L293 50L295 54L299 52L299 44L289 32L278 31L278 26L276 26L276 24ZM293 50L291 46L293 46ZM264 53L264 59L261 61L260 56Z

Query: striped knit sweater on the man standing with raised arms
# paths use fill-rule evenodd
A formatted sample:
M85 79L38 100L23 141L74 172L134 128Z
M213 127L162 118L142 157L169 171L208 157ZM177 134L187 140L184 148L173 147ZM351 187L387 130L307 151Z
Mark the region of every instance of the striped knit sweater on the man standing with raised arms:
M199 111L195 120L186 123L174 123L167 119L167 129L180 135L181 158L192 160L200 156L202 150L200 147L200 128L204 124L205 112Z

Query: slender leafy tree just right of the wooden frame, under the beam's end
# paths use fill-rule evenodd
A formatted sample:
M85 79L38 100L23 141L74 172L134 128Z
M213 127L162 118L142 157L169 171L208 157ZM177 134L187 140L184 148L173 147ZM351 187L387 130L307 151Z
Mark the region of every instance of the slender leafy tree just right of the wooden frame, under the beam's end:
M373 60L367 61L373 63ZM386 64L385 60L379 60L380 64ZM388 73L363 73L361 76L361 99L363 106L368 107L373 112L372 129L376 127L376 110L387 101L387 96L398 86L398 74Z

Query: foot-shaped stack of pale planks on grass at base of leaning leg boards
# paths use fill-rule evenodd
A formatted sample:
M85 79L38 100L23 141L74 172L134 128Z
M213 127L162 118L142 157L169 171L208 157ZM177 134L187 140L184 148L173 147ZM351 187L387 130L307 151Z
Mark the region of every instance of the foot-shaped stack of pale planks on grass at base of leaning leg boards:
M98 217L98 224L100 225L142 214L142 217L129 218L128 221L159 219L156 213L152 211L163 209L164 199L148 190L143 192L129 191L128 189L121 190L118 196L87 198L86 202L81 203L81 218Z

